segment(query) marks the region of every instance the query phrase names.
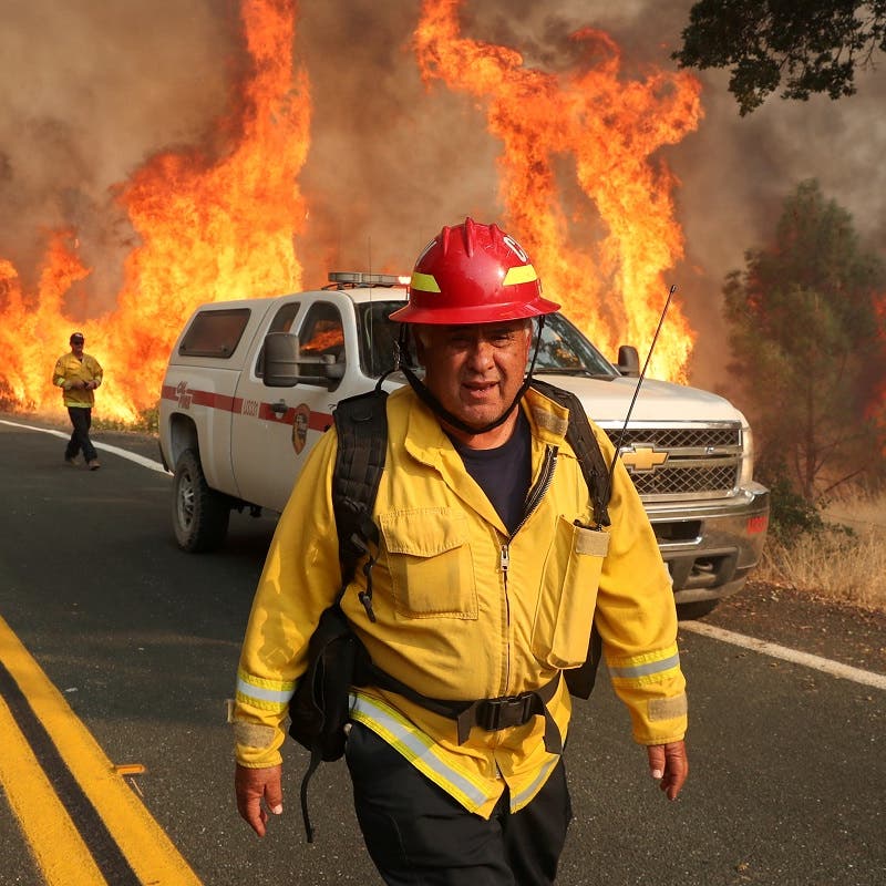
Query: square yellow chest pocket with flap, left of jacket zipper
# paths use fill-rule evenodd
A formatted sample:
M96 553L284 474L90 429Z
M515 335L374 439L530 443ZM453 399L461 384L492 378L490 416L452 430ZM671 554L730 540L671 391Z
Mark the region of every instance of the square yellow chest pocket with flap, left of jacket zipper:
M379 516L391 591L406 618L477 617L477 588L467 518L449 507Z

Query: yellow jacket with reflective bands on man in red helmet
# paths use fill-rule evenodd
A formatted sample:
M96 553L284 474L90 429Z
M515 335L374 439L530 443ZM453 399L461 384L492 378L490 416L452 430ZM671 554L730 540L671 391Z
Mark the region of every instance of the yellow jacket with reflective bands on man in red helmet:
M536 391L522 408L532 427L533 484L556 465L537 507L508 537L433 413L410 388L388 399L388 454L373 519L381 530L370 621L342 608L372 661L433 699L515 696L579 666L591 618L615 691L641 744L683 738L684 680L670 578L624 466L615 472L611 526L591 524L580 465L566 442L567 411ZM606 454L612 447L595 429ZM280 762L282 723L307 664L308 639L340 580L331 498L334 429L317 444L280 518L253 605L234 710L237 760ZM600 554L606 548L608 553ZM563 680L547 704L565 739L571 699ZM352 718L377 732L464 807L488 817L505 785L512 810L542 789L558 756L545 718L499 731L474 727L459 744L454 721L377 688L353 693Z

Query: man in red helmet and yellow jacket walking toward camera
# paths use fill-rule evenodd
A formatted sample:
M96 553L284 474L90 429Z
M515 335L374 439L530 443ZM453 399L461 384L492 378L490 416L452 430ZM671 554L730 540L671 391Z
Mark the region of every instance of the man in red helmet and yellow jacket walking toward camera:
M414 697L353 690L354 807L389 884L554 883L571 816L562 671L584 662L591 620L652 777L674 800L688 774L676 608L649 521L618 463L610 525L596 524L568 411L525 384L533 318L557 307L521 246L468 218L425 247L392 315L425 374L388 399L371 607L361 569L341 606L373 664L413 693L503 715L460 730ZM330 430L296 484L240 656L235 786L259 836L282 812L287 705L340 583L336 449Z

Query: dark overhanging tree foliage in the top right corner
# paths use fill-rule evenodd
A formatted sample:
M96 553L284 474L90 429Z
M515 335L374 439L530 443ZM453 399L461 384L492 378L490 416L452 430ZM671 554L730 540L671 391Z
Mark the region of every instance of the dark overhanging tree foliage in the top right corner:
M886 51L886 0L700 0L689 13L681 68L730 68L742 115L784 80L782 99L855 92L855 69Z

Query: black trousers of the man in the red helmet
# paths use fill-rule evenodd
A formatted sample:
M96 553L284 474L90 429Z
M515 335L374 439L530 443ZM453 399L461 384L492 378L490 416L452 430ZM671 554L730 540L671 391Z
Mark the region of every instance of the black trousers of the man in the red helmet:
M367 848L389 886L549 886L573 817L563 760L527 806L505 791L490 820L354 723L346 749Z

